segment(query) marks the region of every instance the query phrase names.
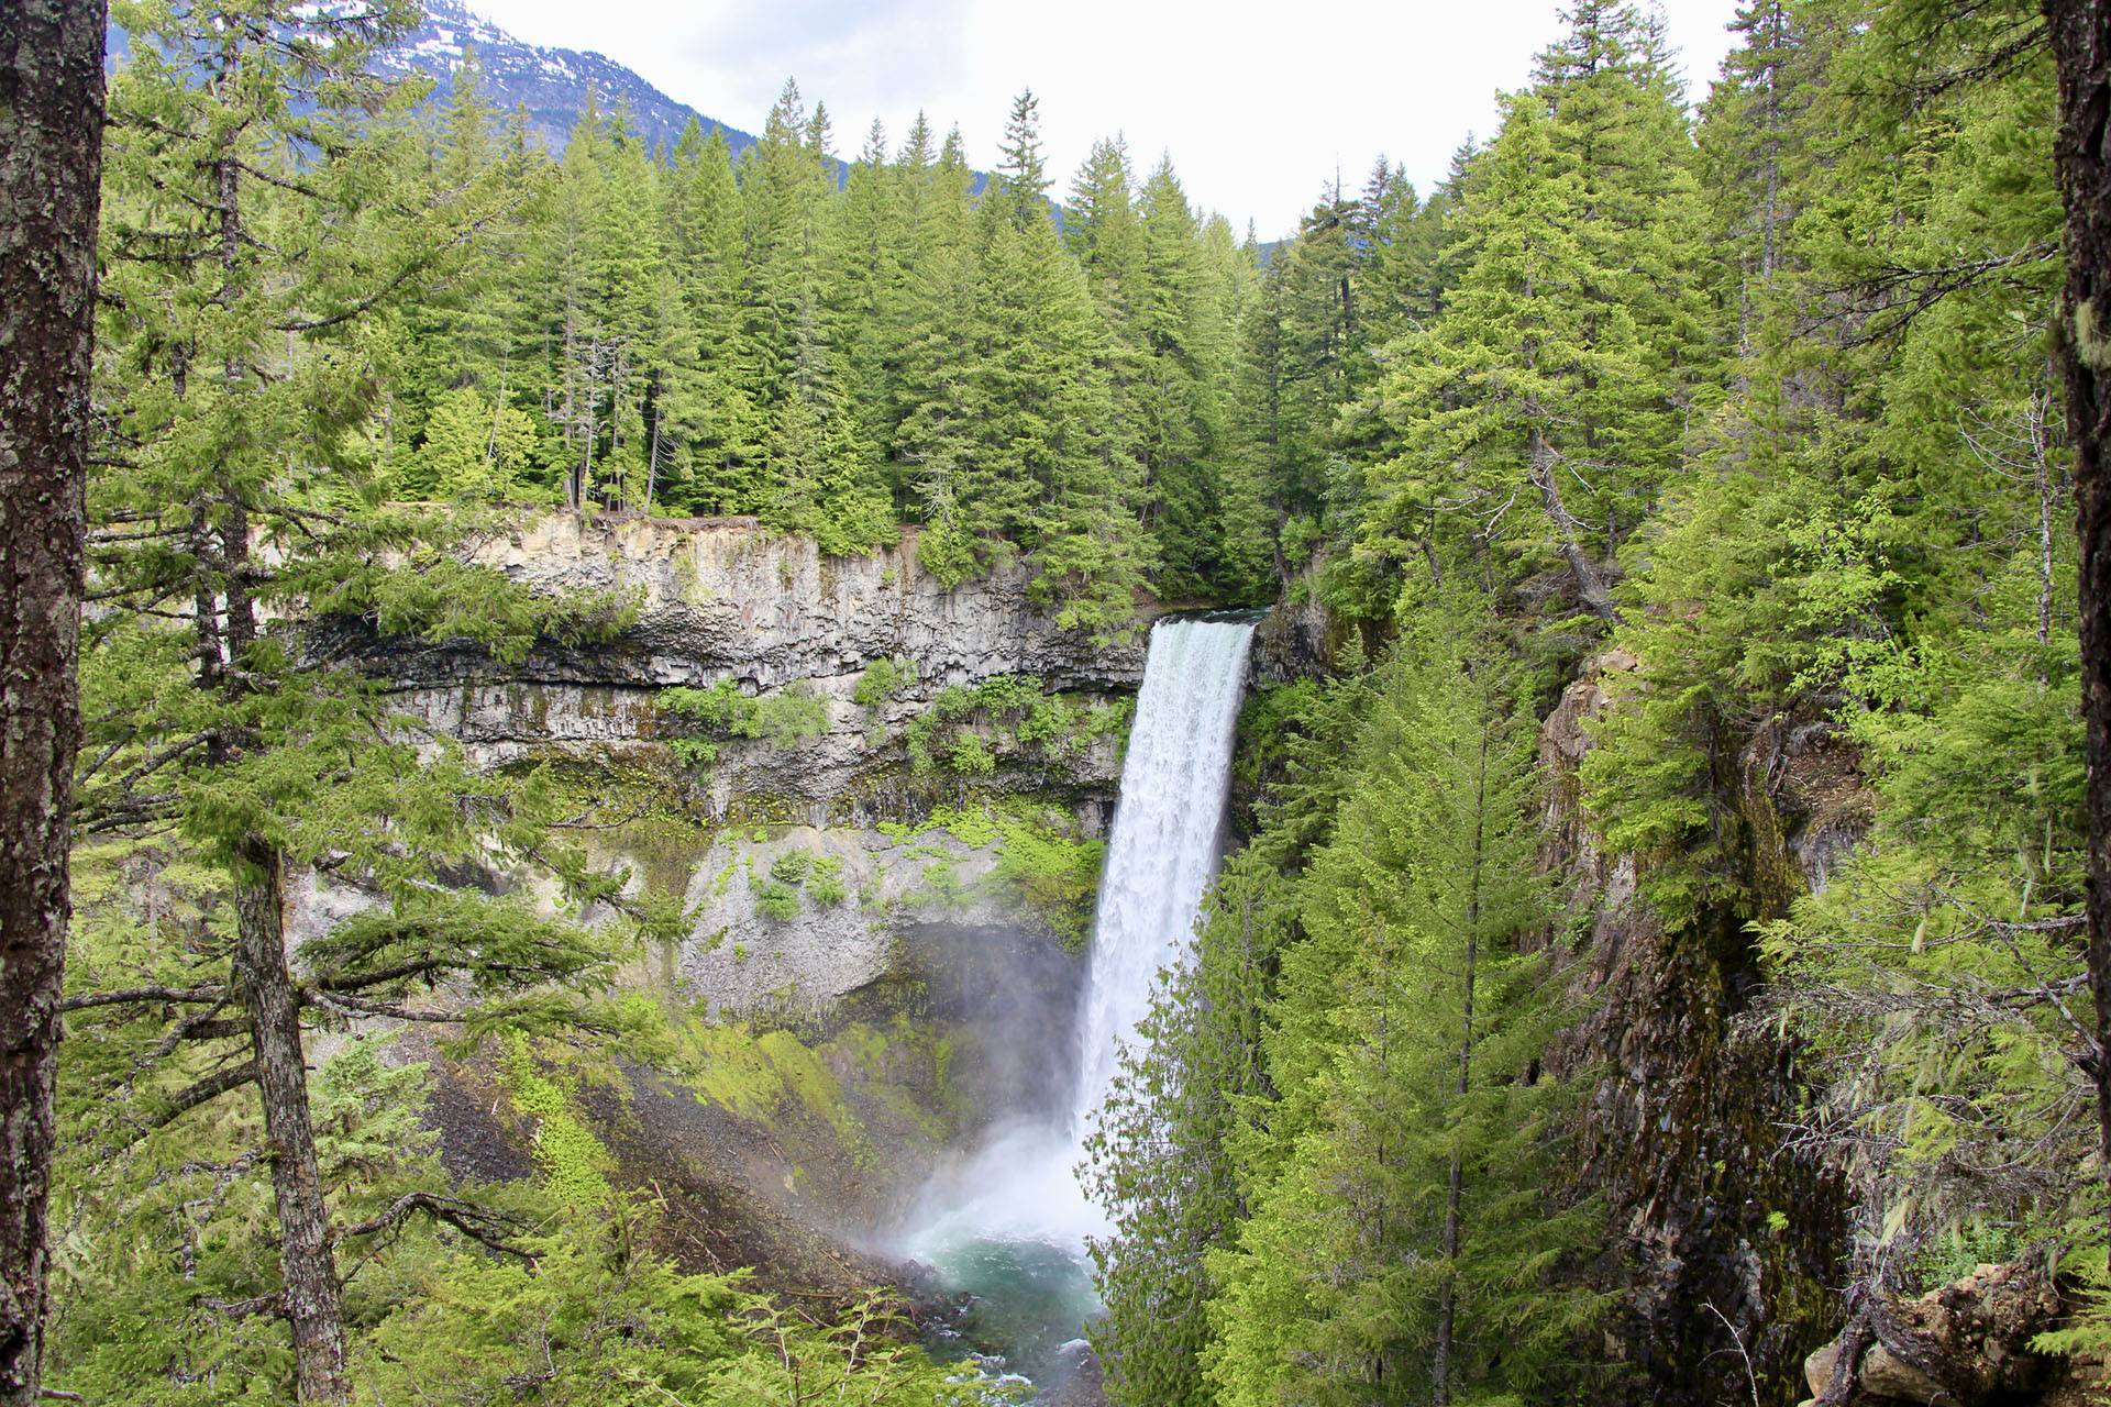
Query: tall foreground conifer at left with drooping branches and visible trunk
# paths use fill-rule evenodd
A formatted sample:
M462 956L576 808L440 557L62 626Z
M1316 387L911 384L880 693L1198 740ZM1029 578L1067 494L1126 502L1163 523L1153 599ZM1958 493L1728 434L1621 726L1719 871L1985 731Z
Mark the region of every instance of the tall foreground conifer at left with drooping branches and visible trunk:
M473 776L445 751L420 757L372 681L291 624L363 618L519 650L562 614L431 546L416 570L384 567L420 525L376 506L365 335L378 308L452 270L486 213L420 179L407 95L361 74L414 8L150 0L118 19L135 36L112 89L122 135L103 196L118 468L91 485L106 608L84 652L95 728L78 816L84 835L179 837L232 918L190 949L139 943L118 972L78 972L68 1008L165 1019L165 1059L125 1074L158 1084L148 1129L258 1091L279 1240L262 1304L291 1331L300 1401L336 1403L348 1392L336 1247L350 1232L325 1200L304 1032L401 1015L414 981L469 994L460 1015L479 1025L591 1019L576 991L534 989L595 989L604 943L473 903L439 873L538 852L583 894L610 886L547 846L534 787ZM298 972L296 867L372 899ZM97 991L108 977L129 981ZM198 1048L220 1059L192 1061Z

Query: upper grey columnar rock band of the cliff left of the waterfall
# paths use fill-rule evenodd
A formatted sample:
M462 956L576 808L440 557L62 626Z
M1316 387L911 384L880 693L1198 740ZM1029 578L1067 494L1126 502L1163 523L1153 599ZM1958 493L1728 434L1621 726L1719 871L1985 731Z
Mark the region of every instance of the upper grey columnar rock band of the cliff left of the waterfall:
M796 747L733 740L697 802L709 821L866 825L916 818L956 789L918 780L904 732L948 688L1022 677L1074 707L1106 707L1142 681L1142 635L1093 641L1062 631L1013 567L948 591L916 563L914 534L872 557L821 557L813 542L747 519L555 515L473 544L477 561L553 595L616 599L629 624L589 648L545 645L496 667L469 645L380 641L338 622L325 641L393 683L397 707L479 766L570 757L667 759L690 732L661 705L669 686L730 681L745 696L796 690L825 728ZM887 660L912 679L872 705L859 679ZM1096 833L1119 783L1119 747L1098 738L1028 768L999 753L994 789L1062 795Z

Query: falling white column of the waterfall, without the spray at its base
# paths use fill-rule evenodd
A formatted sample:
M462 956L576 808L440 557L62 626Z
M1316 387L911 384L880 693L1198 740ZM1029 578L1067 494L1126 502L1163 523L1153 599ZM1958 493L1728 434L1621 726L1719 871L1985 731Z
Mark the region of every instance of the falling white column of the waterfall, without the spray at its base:
M1216 873L1252 637L1250 622L1218 620L1167 620L1150 631L1077 1023L1066 1133L1079 1154L1115 1080L1119 1042L1150 1010L1150 983L1178 958Z

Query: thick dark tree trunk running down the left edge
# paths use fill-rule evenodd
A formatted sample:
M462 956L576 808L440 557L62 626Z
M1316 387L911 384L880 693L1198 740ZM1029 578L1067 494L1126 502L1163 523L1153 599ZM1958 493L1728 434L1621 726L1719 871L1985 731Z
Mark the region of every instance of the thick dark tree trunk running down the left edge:
M101 0L0 4L0 1407L42 1392L103 23Z

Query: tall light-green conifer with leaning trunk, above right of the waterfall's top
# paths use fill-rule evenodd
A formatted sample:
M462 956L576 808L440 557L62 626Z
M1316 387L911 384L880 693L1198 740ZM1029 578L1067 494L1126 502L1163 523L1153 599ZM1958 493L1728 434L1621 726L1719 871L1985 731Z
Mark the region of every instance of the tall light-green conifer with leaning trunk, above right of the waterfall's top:
M1617 618L1615 553L1678 466L1710 369L1689 167L1661 36L1630 8L1577 6L1476 162L1442 323L1395 348L1404 454L1372 473L1368 546L1552 540L1581 603Z

